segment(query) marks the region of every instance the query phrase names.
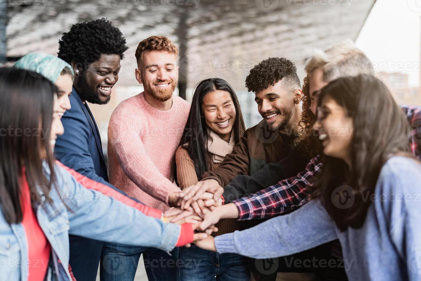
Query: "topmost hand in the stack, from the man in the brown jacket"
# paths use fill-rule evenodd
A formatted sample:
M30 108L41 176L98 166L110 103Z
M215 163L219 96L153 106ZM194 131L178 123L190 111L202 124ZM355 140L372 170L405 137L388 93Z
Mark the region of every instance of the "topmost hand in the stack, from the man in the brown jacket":
M213 193L213 200L217 202L224 193L224 188L215 179L197 182L196 185L187 187L179 194L180 198L183 198L180 202L181 209L187 209L193 201L200 199L206 191Z

